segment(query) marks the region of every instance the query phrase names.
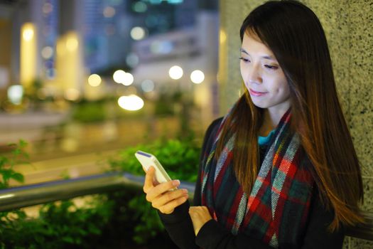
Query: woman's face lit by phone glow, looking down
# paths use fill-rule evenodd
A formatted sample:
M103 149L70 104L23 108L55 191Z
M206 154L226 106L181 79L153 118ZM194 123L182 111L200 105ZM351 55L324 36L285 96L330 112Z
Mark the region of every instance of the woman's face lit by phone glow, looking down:
M272 51L257 36L245 33L240 60L242 79L254 105L270 112L286 112L290 91Z

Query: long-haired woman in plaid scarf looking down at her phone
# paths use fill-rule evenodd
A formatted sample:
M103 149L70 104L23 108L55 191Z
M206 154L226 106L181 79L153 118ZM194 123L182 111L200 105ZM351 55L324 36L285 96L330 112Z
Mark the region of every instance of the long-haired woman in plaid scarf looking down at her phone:
M205 134L194 205L179 181L146 199L180 248L341 248L362 178L320 21L269 1L240 29L245 92Z

